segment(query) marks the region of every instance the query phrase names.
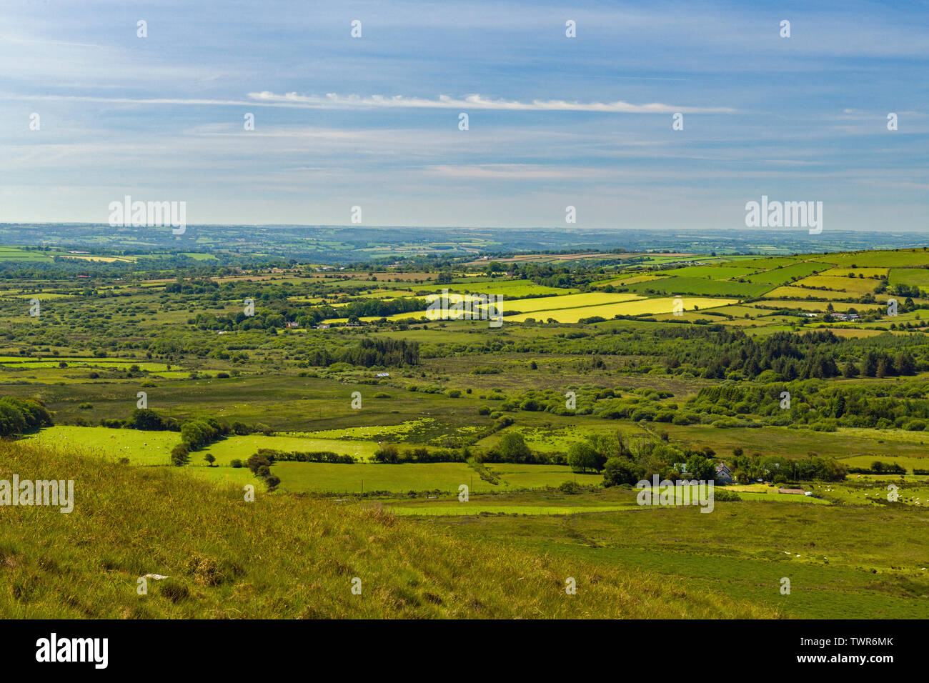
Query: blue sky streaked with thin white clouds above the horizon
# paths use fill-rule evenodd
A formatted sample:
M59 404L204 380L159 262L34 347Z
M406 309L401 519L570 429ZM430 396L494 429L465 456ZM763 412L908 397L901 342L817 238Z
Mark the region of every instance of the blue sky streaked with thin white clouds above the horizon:
M699 235L752 230L764 195L822 202L825 232L926 230L927 21L906 1L7 2L0 222L106 223L129 195L191 225L360 206L369 227Z

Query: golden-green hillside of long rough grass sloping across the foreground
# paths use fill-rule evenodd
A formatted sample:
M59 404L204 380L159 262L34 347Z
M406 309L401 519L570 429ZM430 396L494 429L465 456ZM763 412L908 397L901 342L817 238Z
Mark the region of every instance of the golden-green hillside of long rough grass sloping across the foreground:
M450 538L378 506L260 490L246 503L183 472L0 443L0 479L14 473L74 479L75 504L0 507L4 619L779 616L643 572ZM139 596L147 573L170 578Z

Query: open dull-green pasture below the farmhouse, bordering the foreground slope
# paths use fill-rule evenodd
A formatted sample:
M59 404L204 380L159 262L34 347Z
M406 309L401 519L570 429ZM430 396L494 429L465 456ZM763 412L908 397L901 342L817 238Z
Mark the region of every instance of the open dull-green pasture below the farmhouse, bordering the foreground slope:
M464 504L463 504L464 505ZM568 517L450 517L476 542L512 539L519 548L601 566L646 570L674 584L801 618L925 619L929 555L924 517L887 510L787 503L717 503ZM751 519L751 523L739 520ZM875 543L884 530L893 543ZM792 583L780 594L780 580Z

